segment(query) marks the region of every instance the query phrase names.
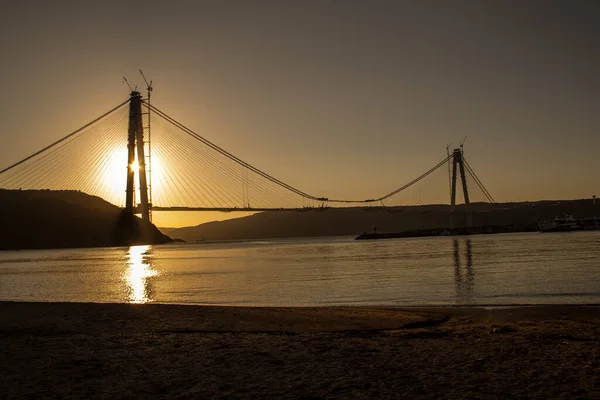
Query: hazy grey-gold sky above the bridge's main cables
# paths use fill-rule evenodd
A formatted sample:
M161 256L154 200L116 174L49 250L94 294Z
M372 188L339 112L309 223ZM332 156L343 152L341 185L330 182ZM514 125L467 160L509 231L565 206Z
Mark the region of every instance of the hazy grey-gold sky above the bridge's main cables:
M464 136L498 201L600 193L598 1L1 6L0 167L126 99L141 68L155 106L308 193L387 193Z

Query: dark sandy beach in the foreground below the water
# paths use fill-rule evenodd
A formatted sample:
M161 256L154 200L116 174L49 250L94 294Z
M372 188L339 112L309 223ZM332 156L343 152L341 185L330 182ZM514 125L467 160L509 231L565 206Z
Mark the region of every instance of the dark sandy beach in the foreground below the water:
M2 398L600 399L600 307L0 302Z

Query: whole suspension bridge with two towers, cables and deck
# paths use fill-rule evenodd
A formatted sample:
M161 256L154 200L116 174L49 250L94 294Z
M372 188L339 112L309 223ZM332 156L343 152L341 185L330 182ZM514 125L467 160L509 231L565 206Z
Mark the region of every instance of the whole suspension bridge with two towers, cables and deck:
M245 162L133 90L85 126L0 170L0 188L77 190L151 221L152 211L323 210L494 202L462 147L368 199L307 193ZM460 177L460 180L459 180ZM460 183L462 191L457 190ZM469 191L469 189L471 191Z

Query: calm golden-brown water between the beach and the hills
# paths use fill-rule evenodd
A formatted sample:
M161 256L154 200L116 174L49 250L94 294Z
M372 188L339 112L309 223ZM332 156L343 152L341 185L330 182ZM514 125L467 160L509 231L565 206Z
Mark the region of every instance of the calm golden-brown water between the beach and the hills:
M600 232L0 252L0 300L600 304Z

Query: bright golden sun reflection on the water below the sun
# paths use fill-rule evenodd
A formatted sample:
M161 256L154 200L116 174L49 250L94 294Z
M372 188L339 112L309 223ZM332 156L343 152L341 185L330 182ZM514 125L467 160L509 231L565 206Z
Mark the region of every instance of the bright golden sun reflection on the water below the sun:
M127 252L127 270L123 275L129 302L154 301L152 277L157 275L159 272L152 266L152 246L131 246Z

